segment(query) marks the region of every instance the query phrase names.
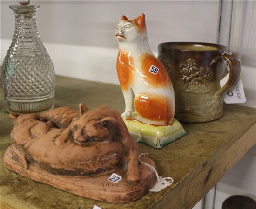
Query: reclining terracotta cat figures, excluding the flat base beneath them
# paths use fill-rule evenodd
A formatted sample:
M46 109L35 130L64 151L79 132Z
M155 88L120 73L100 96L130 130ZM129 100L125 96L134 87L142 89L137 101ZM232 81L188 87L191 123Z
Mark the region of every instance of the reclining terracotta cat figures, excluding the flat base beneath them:
M29 170L36 164L55 175L97 176L127 167L137 184L139 150L119 112L105 106L88 111L60 107L43 114L13 115L12 152Z

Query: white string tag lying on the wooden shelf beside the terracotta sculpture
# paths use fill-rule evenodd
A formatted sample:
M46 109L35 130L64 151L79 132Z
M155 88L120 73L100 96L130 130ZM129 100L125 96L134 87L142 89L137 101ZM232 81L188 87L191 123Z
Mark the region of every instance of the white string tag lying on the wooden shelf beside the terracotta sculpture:
M155 172L155 175L156 175L156 178L157 178L157 181L156 181L155 185L149 191L159 192L162 189L165 189L166 187L172 185L172 183L174 182L173 178L172 177L163 178L162 176L158 176L158 173L157 173L156 169L152 165L149 165L148 163L145 163L145 162L141 161L141 156L142 155L145 156L145 155L148 155L148 153L141 153L138 157L139 162L141 162L142 164L147 165L149 168L151 168L151 170L153 170ZM167 181L166 179L168 179L170 181Z

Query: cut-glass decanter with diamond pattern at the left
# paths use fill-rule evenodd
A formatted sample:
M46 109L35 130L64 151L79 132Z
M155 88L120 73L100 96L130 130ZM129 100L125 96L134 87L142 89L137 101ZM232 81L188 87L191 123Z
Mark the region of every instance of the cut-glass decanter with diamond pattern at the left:
M2 84L8 111L41 113L54 106L55 73L36 28L36 10L30 0L9 6L15 14L13 40L2 66Z

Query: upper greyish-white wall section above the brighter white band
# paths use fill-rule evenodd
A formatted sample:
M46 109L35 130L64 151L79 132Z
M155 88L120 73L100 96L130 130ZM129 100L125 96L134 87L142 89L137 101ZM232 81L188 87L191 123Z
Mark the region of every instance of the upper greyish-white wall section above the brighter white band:
M11 39L14 29L10 4L1 1L1 39ZM153 51L165 41L216 42L219 1L62 1L32 0L39 4L37 25L43 42L116 48L115 26L121 15L135 18L145 13Z

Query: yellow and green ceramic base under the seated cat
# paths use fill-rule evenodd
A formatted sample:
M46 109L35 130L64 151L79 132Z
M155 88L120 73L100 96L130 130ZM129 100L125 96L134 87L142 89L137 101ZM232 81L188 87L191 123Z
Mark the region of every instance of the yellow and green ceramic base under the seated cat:
M131 117L135 116L136 112L133 112ZM180 124L180 122L175 118L172 125L166 126L143 124L137 120L131 120L129 118L124 120L124 123L126 124L129 133L135 138L135 140L139 138L138 131L140 131L141 138L139 142L146 143L157 149L162 148L165 145L187 134L187 132L182 127L182 124ZM138 130L135 127L137 127Z

